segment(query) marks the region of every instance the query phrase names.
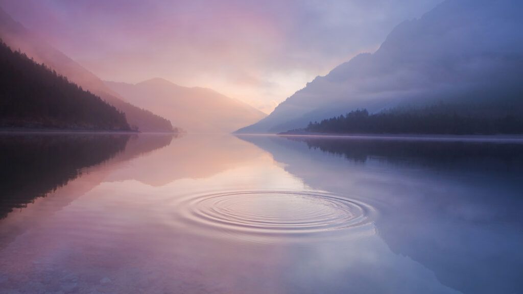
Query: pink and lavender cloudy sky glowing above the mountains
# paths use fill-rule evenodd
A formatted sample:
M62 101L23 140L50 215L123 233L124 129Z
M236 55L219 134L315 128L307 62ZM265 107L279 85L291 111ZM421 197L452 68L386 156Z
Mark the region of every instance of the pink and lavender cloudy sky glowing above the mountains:
M269 113L442 0L0 0L103 80L162 77Z

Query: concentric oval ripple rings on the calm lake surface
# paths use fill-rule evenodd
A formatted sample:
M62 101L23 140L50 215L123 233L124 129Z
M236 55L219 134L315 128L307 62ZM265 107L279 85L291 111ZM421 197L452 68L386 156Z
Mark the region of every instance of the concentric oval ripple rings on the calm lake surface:
M195 231L255 243L306 244L373 231L376 210L361 201L315 191L233 191L178 203Z

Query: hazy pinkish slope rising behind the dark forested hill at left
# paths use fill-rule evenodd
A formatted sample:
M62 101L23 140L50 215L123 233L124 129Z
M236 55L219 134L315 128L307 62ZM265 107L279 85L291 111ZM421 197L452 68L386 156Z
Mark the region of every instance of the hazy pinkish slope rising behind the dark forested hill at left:
M110 105L123 111L130 125L138 127L139 131L173 131L173 126L168 120L123 101L117 93L111 91L96 75L31 33L2 9L0 9L0 38L14 50L20 50L36 62L46 64L52 70L66 76L70 81L82 86L89 92L104 99Z

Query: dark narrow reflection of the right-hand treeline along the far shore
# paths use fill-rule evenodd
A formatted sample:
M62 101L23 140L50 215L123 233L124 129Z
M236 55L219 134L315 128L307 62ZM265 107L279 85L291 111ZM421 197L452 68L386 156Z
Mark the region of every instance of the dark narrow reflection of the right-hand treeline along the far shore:
M289 137L305 142L311 149L365 162L379 159L388 163L437 168L508 169L523 171L523 144L437 141Z

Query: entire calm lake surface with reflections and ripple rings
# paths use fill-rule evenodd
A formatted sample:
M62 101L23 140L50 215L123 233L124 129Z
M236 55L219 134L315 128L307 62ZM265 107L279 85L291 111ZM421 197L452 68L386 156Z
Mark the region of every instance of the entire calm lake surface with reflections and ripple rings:
M0 136L0 293L523 293L523 144Z

